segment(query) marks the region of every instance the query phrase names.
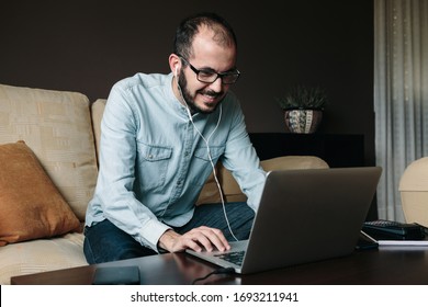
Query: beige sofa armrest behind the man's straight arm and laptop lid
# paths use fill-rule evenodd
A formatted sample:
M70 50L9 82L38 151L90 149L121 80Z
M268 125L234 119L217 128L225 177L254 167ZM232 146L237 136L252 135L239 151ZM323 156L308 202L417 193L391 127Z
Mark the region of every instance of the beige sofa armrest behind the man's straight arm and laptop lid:
M295 170L295 169L327 169L327 162L314 156L283 156L273 159L263 160L260 162L266 171L271 170ZM240 187L232 173L221 163L216 166L217 178L221 183L223 195L226 202L245 202L246 195L240 191ZM214 175L211 174L207 179L196 204L221 203L217 184Z

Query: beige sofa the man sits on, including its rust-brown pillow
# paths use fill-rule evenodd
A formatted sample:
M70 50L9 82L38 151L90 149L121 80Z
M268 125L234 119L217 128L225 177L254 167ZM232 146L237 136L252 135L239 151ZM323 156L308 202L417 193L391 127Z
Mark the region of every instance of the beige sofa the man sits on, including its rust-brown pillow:
M95 187L104 105L77 92L0 84L0 284L87 264L81 229ZM319 158L300 156L262 164L328 168ZM245 200L228 171L217 168L226 200ZM198 203L218 200L210 178Z

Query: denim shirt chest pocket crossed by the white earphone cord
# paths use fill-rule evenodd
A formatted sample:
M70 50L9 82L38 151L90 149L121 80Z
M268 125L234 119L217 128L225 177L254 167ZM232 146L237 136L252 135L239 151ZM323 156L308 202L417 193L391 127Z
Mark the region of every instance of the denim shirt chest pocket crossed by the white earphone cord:
M223 155L224 146L210 146L210 156L206 147L199 147L194 151L193 163L191 166L191 183L203 186L207 177L213 172L211 161L215 166L218 158ZM211 157L211 158L210 158ZM211 160L211 161L210 161Z

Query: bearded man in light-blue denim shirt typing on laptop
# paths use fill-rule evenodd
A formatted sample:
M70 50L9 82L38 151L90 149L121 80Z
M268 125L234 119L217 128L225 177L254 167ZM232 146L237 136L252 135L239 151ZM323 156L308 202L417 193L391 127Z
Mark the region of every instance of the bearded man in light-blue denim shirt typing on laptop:
M89 263L185 249L223 251L229 240L248 238L266 173L229 91L240 75L236 58L226 21L199 14L177 30L171 73L137 73L113 87L87 212ZM248 201L195 206L218 160Z

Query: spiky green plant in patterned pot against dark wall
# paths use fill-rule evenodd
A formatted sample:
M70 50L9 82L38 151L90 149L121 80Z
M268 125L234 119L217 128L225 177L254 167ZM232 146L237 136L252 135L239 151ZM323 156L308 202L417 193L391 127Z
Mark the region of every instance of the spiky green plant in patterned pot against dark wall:
M327 95L319 87L297 86L278 103L284 111L285 126L291 133L314 133L323 118Z

